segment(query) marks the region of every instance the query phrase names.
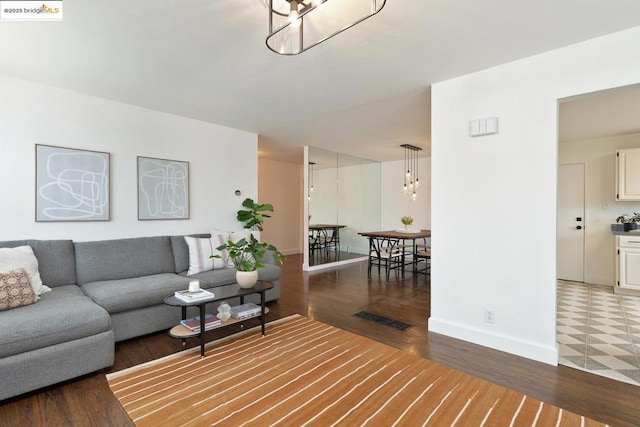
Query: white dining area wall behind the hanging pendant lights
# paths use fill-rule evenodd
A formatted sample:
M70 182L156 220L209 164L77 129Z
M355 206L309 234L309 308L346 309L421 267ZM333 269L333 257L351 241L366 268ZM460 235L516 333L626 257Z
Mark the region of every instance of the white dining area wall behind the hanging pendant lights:
M382 163L382 212L381 230L402 228L400 218L413 217L413 226L431 229L431 157L418 158L420 187L414 202L409 195L402 194L404 185L404 161Z

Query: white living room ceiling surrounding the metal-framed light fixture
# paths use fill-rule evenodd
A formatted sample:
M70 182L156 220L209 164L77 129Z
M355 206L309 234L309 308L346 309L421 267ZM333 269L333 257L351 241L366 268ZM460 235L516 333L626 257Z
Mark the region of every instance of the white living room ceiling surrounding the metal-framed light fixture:
M640 1L387 0L294 57L267 23L262 0L67 0L0 22L0 74L255 132L265 157L394 160L429 153L431 84L640 25Z

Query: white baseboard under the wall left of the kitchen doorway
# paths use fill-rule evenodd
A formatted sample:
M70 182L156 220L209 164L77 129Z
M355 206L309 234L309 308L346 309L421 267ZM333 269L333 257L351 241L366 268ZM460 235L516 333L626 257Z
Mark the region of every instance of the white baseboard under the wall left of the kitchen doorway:
M496 334L434 317L429 318L429 331L549 365L558 365L558 346L555 343L551 346L545 346L533 341Z

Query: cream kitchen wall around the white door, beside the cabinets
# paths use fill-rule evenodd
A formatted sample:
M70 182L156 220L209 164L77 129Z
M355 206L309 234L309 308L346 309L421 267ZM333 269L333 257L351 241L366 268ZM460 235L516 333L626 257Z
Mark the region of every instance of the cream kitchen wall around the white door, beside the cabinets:
M615 200L616 150L638 147L640 134L564 141L559 145L560 164L585 165L586 283L606 286L615 283L615 238L611 224L621 214L640 212L640 202Z

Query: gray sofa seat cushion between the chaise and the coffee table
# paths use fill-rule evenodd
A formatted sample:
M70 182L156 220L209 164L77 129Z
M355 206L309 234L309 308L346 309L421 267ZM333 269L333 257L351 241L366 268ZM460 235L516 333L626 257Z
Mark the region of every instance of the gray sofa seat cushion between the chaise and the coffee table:
M82 290L109 313L119 313L164 304L175 291L188 289L190 280L175 273L154 274L86 283Z

